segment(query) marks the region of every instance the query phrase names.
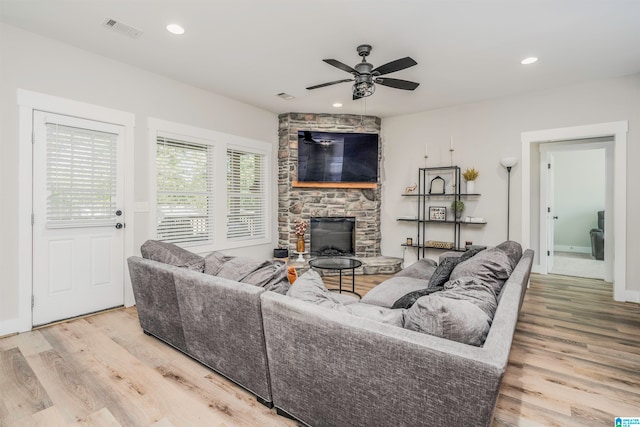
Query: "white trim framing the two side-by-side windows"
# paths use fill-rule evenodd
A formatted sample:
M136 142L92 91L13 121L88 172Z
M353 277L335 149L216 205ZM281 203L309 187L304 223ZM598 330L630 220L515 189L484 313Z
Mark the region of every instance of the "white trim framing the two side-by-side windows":
M151 161L149 162L149 236L156 236L156 146L158 136L168 136L178 140L192 141L197 143L210 144L214 148L214 182L216 203L214 208L214 238L212 245L189 246L189 250L198 254L206 254L211 251L220 251L228 249L236 249L263 245L271 243L271 227L272 223L272 149L271 144L255 139L244 138L222 132L216 132L211 129L200 128L196 126L185 125L182 123L171 122L167 120L150 117L148 119L149 128L149 146ZM250 153L256 153L265 156L265 237L259 239L231 240L227 239L227 176L226 176L226 158L227 149L232 148Z

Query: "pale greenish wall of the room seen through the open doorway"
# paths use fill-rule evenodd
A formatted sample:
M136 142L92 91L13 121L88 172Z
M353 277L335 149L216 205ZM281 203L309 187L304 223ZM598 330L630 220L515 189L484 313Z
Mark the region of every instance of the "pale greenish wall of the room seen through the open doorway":
M604 210L604 148L553 153L554 249L591 253L589 230Z

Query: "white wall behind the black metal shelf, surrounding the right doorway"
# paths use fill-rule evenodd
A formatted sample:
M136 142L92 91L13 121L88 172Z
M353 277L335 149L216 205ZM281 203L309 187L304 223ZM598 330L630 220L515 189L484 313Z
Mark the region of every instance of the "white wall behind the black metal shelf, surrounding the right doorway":
M506 156L522 158L522 132L621 120L629 123L627 216L631 219L640 209L640 169L634 167L640 161L640 74L383 119L383 254L402 256L400 244L411 233L415 235L414 225L395 218L410 211L410 201L400 194L416 181L418 168L424 166L425 143L429 144L429 165L447 165L449 137L453 136L454 164L479 169L476 191L482 196L468 203L469 210L463 215L481 216L489 223L463 226L462 240L494 245L507 234L507 173L499 161ZM520 166L511 172L510 237L517 241L522 240ZM640 237L637 221L628 221L627 234L626 253L616 256L626 257L626 288L640 290L640 264L635 262L640 247L634 244Z

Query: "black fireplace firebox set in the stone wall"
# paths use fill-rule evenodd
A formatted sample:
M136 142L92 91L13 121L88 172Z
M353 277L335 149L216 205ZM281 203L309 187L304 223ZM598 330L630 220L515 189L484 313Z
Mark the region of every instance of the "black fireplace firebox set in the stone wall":
M354 256L355 217L312 217L310 255Z

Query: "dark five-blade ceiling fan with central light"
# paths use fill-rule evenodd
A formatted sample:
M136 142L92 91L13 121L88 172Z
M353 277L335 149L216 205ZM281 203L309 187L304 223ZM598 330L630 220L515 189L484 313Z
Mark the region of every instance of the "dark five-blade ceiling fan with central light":
M353 84L353 99L364 98L365 96L373 95L376 90L375 84L392 87L394 89L403 90L415 90L420 83L410 82L408 80L392 79L389 77L380 77L385 74L393 73L395 71L404 70L405 68L413 67L418 63L410 57L396 59L395 61L388 62L377 68L373 68L373 65L367 62L367 56L371 53L371 45L361 44L358 46L358 55L362 57L362 61L355 67L350 67L347 64L343 64L335 59L323 59L329 65L333 65L336 68L340 68L347 73L353 74L352 79L335 80L333 82L322 83L315 86L310 86L307 89L313 90L320 87L331 86L337 83L355 82Z

